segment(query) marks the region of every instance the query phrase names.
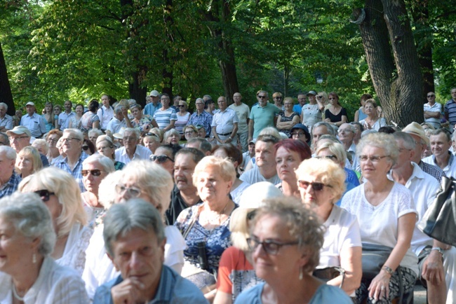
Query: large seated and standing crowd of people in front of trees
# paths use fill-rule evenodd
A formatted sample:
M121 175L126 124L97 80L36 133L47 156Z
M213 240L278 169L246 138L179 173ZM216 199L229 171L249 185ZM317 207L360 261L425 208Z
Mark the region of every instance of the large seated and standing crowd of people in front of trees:
M456 178L451 95L402 129L314 90L0 103L0 302L456 303L455 247L417 228Z

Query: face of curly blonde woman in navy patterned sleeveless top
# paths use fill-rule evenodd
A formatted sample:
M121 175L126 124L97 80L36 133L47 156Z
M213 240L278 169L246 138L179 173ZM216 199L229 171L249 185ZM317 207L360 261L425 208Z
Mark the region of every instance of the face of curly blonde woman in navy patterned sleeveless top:
M232 181L224 181L218 167L209 166L196 179L198 195L203 202L224 202L232 188Z

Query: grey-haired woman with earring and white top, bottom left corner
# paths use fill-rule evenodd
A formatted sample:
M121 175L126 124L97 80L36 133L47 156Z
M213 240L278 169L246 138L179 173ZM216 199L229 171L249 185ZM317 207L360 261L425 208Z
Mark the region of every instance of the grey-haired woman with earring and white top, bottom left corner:
M81 277L50 257L55 244L51 214L34 193L0 200L0 302L88 303Z

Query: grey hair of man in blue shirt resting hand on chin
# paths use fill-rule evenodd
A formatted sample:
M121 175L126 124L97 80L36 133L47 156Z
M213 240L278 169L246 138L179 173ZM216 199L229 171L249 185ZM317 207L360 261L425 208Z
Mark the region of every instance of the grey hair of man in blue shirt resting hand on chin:
M128 200L124 204L112 206L103 220L103 240L107 253L114 257L112 244L119 237L125 236L133 229L146 232L153 231L158 244L165 239L165 230L158 210L149 202L140 198Z

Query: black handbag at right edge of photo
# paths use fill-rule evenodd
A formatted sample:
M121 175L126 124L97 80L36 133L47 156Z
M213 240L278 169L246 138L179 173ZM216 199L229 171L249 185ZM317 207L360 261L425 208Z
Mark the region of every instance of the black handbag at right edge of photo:
M418 228L433 239L456 246L456 181L442 177L434 204L427 209Z

